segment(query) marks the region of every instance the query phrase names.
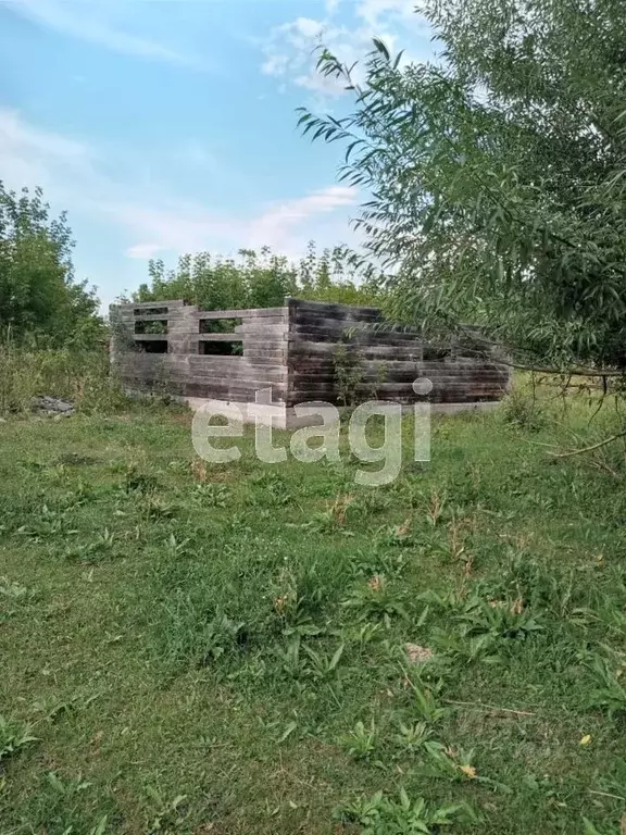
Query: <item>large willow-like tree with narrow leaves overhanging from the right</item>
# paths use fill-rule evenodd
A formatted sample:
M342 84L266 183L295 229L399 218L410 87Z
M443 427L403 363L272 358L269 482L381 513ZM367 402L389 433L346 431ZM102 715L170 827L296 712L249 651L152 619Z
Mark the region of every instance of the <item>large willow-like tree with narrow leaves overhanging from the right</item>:
M358 225L390 269L399 317L479 325L533 361L626 365L626 4L425 0L443 51L380 41L342 119L341 177L372 195Z

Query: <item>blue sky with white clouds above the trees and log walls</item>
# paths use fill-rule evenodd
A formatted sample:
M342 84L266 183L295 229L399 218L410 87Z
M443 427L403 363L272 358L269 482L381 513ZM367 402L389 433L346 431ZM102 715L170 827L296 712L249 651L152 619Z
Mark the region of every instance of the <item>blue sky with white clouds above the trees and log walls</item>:
M66 209L78 278L108 304L150 258L353 242L363 195L296 129L347 101L314 72L372 36L431 53L415 0L0 0L0 179Z

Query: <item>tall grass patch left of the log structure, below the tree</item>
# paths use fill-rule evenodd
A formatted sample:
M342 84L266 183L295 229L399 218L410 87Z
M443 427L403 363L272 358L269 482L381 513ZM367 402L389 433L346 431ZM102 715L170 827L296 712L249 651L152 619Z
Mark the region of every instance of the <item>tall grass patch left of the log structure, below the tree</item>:
M42 395L66 398L86 412L115 411L126 403L104 350L32 351L0 344L0 415L25 414L33 398Z

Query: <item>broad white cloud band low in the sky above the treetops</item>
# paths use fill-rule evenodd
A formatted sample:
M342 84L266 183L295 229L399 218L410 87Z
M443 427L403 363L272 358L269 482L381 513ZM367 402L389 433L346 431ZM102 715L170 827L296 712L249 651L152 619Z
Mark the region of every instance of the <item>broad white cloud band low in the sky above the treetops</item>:
M126 256L136 260L264 245L303 251L318 233L323 242L338 244L337 229L348 232L346 212L356 200L354 188L329 186L247 213L212 211L163 189L147 194L137 182L113 180L103 173L104 158L88 145L43 130L2 108L0 159L9 187L41 185L47 199L70 211L71 223L76 216L88 217L103 229L121 232L128 241Z

